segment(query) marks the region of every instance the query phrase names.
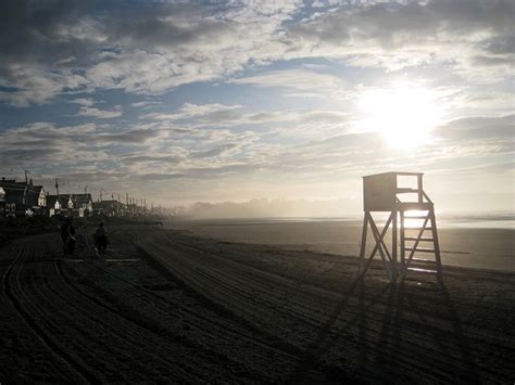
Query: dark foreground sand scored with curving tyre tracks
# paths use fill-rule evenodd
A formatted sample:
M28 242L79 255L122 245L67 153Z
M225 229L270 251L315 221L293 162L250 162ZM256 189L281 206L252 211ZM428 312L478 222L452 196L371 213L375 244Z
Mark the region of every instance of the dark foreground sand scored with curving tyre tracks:
M0 249L0 382L462 382L515 377L514 274L379 264L120 227Z

